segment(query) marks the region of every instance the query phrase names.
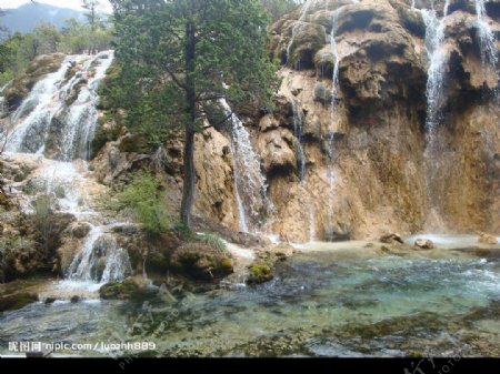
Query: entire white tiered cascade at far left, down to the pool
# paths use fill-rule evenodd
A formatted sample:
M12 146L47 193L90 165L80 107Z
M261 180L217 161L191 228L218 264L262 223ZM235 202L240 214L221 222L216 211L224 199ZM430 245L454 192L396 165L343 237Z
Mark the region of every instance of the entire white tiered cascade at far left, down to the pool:
M127 251L109 233L112 225L103 225L88 205L86 194L92 188L83 175L88 166L82 160L90 156L98 122L98 85L112 61L112 51L67 57L61 68L41 79L10 117L14 132L7 151L13 155L39 154L31 183L39 186L40 194L57 201L59 212L70 213L91 228L67 270L64 282L71 283L69 287L119 281L132 272ZM80 160L72 162L76 159ZM29 202L22 205L30 211Z

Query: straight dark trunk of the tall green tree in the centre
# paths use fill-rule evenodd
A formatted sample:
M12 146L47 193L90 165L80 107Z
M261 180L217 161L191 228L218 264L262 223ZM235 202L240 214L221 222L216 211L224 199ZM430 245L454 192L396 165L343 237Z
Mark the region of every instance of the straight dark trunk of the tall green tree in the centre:
M181 222L188 228L191 226L191 210L194 200L194 134L197 120L197 95L194 83L196 70L196 28L194 23L186 24L186 111L189 121L186 124L184 144L184 184L182 189Z

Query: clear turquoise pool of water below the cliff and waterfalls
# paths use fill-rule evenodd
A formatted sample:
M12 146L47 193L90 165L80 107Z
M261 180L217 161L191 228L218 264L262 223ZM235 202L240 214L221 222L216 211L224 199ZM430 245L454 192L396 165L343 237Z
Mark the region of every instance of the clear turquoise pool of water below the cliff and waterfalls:
M252 287L28 305L0 316L0 350L147 341L158 356L499 356L499 259L336 250L289 259Z

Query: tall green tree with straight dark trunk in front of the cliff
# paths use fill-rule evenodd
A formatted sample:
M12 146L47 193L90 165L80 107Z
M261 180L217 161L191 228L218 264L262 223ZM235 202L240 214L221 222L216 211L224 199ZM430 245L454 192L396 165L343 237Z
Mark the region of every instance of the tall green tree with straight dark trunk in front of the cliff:
M191 224L194 135L209 103L263 102L276 90L258 0L112 0L116 55L137 85L162 82L172 121L184 129L181 222ZM138 73L140 72L140 73ZM164 114L164 113L163 113Z

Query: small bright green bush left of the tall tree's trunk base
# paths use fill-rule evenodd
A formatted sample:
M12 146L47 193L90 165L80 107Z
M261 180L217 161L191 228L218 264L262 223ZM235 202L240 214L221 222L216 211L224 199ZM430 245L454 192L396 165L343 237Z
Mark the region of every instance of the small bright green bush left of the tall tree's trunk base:
M117 193L118 210L128 210L151 234L166 232L170 228L164 191L160 181L149 173L136 175Z

